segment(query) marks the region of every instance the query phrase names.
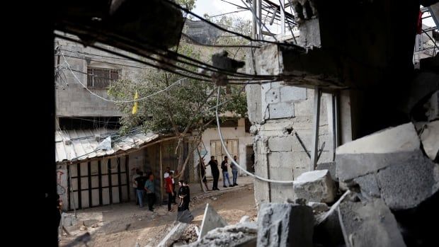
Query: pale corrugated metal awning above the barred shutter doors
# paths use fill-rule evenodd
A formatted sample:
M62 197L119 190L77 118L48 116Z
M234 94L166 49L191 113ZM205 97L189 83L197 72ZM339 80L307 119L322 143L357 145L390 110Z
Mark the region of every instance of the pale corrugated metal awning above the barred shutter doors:
M111 137L111 149L101 150L98 145L106 137ZM135 130L125 136L119 136L115 130L99 128L95 130L57 130L55 132L55 161L76 161L115 154L138 148L154 139L159 134L144 133Z

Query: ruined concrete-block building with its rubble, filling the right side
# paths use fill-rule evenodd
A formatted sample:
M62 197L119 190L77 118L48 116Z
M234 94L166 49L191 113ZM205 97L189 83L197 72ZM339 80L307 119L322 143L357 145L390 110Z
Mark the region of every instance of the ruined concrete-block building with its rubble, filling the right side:
M249 74L284 77L246 86L255 175L275 181L255 179L257 224L191 246L437 245L437 26L417 20L428 10L437 23L439 4L292 4L297 42L246 60Z

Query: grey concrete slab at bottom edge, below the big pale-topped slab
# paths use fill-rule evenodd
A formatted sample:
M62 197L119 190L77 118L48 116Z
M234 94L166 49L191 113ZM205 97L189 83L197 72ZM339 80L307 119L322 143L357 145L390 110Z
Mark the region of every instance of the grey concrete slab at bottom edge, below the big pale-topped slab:
M397 221L382 199L340 204L346 246L406 246Z

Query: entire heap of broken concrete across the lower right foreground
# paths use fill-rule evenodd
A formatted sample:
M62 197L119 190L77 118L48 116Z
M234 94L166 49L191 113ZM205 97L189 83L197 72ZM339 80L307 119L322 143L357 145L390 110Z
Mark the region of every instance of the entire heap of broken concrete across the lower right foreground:
M261 203L258 222L242 217L225 226L207 205L208 231L202 226L189 246L431 246L438 121L416 127L409 122L338 147L335 162L296 178L294 197Z

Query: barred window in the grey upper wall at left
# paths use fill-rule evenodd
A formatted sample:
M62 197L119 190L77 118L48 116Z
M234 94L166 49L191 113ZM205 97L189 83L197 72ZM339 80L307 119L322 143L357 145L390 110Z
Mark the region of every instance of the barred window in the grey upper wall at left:
M89 88L107 88L118 79L119 71L117 69L87 69L87 86Z

